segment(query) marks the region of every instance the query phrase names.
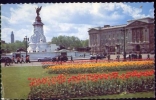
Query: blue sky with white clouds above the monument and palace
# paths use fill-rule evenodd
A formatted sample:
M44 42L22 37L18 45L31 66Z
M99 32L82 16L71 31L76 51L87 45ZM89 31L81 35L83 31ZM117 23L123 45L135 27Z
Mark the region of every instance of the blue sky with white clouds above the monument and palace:
M40 17L49 42L59 35L85 40L89 38L88 29L92 27L127 24L128 20L144 17L154 18L153 5L153 2L1 4L1 39L10 43L12 31L15 40L31 37L35 8L38 6L42 6Z

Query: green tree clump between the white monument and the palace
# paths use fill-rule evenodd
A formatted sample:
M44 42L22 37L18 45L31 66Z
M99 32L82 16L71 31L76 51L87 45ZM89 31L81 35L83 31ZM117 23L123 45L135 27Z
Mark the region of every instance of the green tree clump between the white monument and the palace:
M58 36L53 37L51 39L51 43L56 45L62 45L65 48L78 48L78 47L87 47L88 46L88 39L87 40L80 40L78 37L75 36Z

